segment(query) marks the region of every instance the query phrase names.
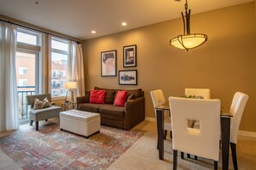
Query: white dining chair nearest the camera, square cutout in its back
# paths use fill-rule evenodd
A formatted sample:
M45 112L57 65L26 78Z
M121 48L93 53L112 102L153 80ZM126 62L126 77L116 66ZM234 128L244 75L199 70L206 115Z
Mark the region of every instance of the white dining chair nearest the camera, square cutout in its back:
M173 169L177 169L178 151L211 159L217 169L221 101L169 97L169 105L172 112ZM199 120L200 128L188 127L188 119Z

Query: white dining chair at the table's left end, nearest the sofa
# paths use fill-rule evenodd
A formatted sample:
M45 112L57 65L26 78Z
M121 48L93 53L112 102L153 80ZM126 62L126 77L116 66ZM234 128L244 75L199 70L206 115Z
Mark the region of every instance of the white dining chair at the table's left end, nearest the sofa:
M163 91L161 89L150 91L151 98L153 101L153 107L157 107L160 105L165 104L165 96L163 94ZM154 109L155 117L156 117L156 109ZM165 111L165 122L164 122L164 130L165 135L164 138L166 139L167 131L170 131L170 137L172 138L172 123L171 123L171 117L170 112Z

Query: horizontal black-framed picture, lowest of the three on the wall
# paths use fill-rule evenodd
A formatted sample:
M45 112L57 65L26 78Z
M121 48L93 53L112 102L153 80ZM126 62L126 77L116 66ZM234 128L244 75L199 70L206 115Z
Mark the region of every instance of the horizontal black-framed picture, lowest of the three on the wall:
M119 85L137 85L137 70L119 70Z

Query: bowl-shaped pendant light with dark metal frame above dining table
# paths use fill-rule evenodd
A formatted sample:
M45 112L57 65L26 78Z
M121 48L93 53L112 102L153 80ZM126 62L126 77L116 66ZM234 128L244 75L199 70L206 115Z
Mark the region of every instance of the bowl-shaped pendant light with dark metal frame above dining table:
M175 46L179 49L189 49L196 48L197 46L203 45L207 41L207 35L203 33L190 33L190 9L188 11L188 2L184 4L185 15L181 12L184 34L178 35L177 37L170 40L170 46Z

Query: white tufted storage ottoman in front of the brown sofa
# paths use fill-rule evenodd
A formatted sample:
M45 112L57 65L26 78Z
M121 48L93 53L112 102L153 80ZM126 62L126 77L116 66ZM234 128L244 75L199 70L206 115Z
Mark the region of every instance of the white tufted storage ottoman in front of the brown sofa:
M84 137L100 131L101 118L96 112L69 110L59 112L60 130L71 131Z

